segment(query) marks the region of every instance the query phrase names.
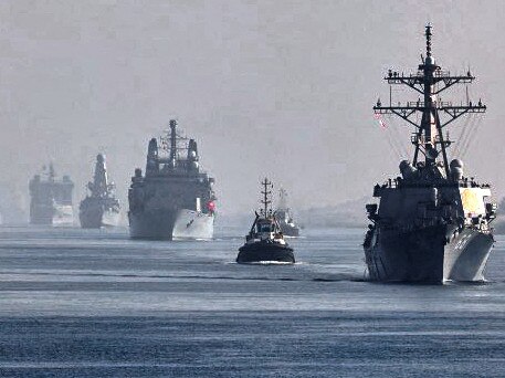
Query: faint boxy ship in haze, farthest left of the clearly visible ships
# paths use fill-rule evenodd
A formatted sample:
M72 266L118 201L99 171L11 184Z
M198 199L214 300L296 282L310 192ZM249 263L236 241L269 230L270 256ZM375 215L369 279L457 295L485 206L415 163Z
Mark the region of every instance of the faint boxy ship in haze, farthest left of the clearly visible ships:
M35 175L30 180L30 223L72 225L74 210L72 208L72 191L74 183L69 176L56 179L54 167L43 168L42 175Z

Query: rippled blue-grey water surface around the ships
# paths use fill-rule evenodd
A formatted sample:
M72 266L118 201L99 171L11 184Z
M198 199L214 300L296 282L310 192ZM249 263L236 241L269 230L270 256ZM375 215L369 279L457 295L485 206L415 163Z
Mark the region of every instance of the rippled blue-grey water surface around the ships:
M295 265L233 263L244 230L0 229L0 377L505 377L505 238L486 284L364 282L361 230Z

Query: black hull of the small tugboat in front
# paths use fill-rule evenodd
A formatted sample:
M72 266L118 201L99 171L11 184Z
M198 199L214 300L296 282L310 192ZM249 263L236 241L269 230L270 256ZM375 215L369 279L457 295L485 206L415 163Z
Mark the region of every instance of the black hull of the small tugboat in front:
M293 249L288 245L257 242L244 244L239 249L238 263L277 261L295 263Z

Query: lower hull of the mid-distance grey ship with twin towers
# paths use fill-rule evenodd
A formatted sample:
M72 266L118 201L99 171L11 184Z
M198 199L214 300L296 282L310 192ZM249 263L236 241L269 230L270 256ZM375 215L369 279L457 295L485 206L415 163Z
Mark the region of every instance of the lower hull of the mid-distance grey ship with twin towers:
M189 209L129 212L131 239L212 239L214 216Z

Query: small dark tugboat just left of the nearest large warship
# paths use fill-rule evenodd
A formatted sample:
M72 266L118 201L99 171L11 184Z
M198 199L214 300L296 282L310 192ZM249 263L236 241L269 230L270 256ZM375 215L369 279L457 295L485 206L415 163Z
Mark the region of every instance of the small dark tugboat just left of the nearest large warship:
M263 209L257 213L251 227L251 231L245 237L245 244L239 249L236 256L238 263L254 263L254 262L285 262L294 263L295 256L293 249L284 241L281 227L275 213L269 206L272 203L270 196L272 195L272 182L264 179L263 186Z

